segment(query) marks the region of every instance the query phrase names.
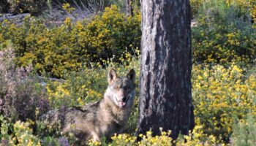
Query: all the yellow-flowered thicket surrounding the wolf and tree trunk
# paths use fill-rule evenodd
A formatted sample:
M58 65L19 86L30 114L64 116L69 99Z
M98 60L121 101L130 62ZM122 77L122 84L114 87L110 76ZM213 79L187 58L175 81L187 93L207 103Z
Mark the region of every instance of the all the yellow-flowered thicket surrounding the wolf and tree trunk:
M192 99L195 128L174 140L135 132L135 107L124 134L89 145L256 145L255 1L192 0ZM1 8L1 7L0 7ZM72 145L72 134L45 126L50 109L102 99L108 69L140 74L140 12L126 17L117 6L61 26L28 17L0 23L1 145ZM40 74L42 77L38 77ZM48 77L58 77L52 80ZM46 129L46 130L45 130ZM161 128L160 128L161 129Z

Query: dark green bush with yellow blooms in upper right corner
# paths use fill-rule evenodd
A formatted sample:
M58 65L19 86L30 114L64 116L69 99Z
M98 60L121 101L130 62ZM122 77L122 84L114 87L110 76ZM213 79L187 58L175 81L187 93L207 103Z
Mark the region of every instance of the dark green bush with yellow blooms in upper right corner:
M192 28L194 62L253 61L256 57L256 30L251 21L240 15L240 7L233 7L225 1L204 7L197 18L197 26Z

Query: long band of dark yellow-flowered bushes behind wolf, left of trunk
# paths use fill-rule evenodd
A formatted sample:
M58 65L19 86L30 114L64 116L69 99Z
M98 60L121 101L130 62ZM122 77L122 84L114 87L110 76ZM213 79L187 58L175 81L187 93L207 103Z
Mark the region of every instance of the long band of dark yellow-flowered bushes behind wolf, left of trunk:
M0 42L12 41L20 66L33 64L38 72L53 77L113 55L117 61L124 50L133 53L132 47L140 46L140 14L126 18L112 6L91 20L71 21L67 18L61 26L48 28L34 18L26 18L22 26L5 20L0 24Z

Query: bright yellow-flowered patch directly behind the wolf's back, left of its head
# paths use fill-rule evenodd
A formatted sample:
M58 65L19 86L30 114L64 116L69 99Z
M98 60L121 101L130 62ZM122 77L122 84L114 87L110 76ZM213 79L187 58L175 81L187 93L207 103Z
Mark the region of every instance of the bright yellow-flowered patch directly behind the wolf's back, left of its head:
M51 107L61 107L63 104L83 106L102 99L107 86L105 74L105 69L84 69L83 72L71 72L64 82L48 82L46 89Z

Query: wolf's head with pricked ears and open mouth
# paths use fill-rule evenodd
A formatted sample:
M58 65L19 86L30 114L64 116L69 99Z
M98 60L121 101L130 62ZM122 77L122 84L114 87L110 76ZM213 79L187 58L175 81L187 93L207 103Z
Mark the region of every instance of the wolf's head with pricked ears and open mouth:
M117 107L130 107L135 99L135 71L132 69L127 77L118 77L114 69L108 72L108 88L105 98Z

